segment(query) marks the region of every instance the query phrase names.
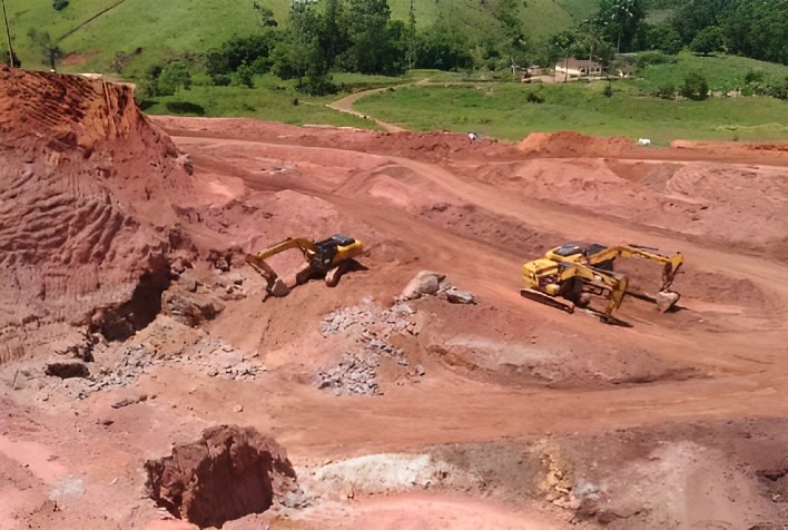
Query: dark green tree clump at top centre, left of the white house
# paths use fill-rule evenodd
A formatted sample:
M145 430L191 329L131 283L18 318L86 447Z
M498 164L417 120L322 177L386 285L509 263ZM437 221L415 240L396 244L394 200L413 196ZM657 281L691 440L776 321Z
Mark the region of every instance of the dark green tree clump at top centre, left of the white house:
M331 72L400 75L408 68L444 70L521 68L533 60L522 24L523 0L485 0L474 11L485 24L469 35L467 20L449 14L418 28L410 4L407 21L392 20L387 0L298 0L277 21L263 0L254 2L258 35L234 38L206 57L215 84L229 84L239 69L297 79L307 94L332 91Z

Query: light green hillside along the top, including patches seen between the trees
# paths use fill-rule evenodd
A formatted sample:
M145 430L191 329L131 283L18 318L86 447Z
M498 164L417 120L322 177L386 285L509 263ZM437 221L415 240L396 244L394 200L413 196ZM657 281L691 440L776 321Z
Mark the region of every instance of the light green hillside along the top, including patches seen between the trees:
M583 12L595 0L529 0L523 23L534 38L569 27L572 14ZM257 30L253 2L225 0L72 0L56 11L51 0L7 0L14 49L24 68L48 68L28 31L47 31L72 57L62 71L110 71L118 53L126 58L124 75L142 71L148 65L175 53L201 52L233 36ZM277 20L286 20L289 0L264 2ZM406 20L410 0L390 0L392 16ZM451 12L464 21L467 31L481 31L490 14L479 0L415 0L416 23L427 27ZM135 50L141 50L132 55ZM122 57L121 57L122 59Z

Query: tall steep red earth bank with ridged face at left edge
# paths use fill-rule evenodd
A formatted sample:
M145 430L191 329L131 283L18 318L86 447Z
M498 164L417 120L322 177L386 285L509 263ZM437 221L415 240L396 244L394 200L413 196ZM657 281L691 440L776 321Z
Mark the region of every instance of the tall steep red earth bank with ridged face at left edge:
M128 336L184 244L188 165L128 87L0 66L0 363L68 350L88 324Z

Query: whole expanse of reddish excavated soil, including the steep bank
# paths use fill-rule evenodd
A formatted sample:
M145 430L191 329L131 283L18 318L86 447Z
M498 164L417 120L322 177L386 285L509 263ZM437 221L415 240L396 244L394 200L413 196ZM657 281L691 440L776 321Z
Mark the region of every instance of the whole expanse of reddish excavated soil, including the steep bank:
M4 67L0 91L0 528L788 520L788 147L149 119ZM244 264L335 233L366 252L334 288L266 297ZM573 241L682 252L677 311L523 300ZM401 300L425 269L477 303Z

